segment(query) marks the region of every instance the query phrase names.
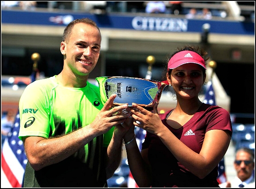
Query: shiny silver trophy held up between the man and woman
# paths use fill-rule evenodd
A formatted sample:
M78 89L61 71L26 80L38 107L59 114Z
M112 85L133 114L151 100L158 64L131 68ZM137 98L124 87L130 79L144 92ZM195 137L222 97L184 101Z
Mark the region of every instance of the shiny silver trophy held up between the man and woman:
M116 94L114 105L120 106L128 104L128 108L116 114L129 113L132 103L143 106L152 111L153 103L159 102L163 88L166 83L151 79L141 79L134 77L102 76L96 78L101 94L101 101L106 102L110 95ZM115 114L115 115L116 115Z

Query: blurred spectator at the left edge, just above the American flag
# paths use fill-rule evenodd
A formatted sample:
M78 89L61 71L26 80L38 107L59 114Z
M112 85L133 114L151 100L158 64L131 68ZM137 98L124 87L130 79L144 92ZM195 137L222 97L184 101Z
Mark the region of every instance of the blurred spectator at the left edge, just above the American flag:
M8 133L11 131L12 124L15 120L16 113L14 110L8 110L5 116L1 118L1 145L3 147L3 143L5 138L8 136Z

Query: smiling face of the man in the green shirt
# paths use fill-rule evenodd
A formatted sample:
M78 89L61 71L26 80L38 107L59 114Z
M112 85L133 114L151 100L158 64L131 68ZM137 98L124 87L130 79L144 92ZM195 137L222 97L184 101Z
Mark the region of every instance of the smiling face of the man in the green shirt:
M68 42L61 43L64 68L75 75L89 75L97 64L100 49L101 34L97 28L85 23L74 25Z

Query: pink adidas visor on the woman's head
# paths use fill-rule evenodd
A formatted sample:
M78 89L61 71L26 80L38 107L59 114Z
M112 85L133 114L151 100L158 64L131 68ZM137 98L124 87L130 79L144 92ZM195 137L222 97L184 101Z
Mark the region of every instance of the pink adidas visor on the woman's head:
M168 62L168 68L174 69L187 63L199 64L206 69L205 60L198 53L190 50L180 51L171 57Z

